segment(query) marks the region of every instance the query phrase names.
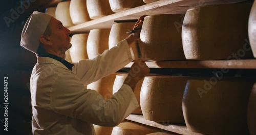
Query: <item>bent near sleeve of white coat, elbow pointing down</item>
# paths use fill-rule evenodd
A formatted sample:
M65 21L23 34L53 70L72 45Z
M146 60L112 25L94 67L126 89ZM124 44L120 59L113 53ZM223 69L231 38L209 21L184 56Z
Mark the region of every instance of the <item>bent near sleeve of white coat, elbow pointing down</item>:
M109 100L86 89L72 73L60 74L53 83L51 109L58 114L101 126L116 126L138 107L129 85L123 84Z

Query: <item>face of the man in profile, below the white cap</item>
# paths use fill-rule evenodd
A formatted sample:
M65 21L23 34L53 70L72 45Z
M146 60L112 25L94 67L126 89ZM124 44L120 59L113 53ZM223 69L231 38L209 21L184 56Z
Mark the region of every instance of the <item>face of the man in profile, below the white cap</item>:
M69 37L70 30L64 27L62 23L54 17L51 18L50 23L50 40L53 44L54 50L61 51L62 53L66 52L72 46Z

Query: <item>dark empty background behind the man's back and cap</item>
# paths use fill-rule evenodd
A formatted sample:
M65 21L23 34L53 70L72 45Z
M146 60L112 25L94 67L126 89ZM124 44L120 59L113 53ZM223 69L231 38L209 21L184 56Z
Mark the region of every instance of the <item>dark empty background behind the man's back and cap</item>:
M32 134L29 80L36 57L33 53L20 47L20 34L27 18L33 11L45 12L47 7L54 7L60 1L1 0L0 82L4 82L4 77L8 77L9 105L8 131L4 131L4 83L0 83L0 134ZM27 8L25 8L24 2L27 2Z

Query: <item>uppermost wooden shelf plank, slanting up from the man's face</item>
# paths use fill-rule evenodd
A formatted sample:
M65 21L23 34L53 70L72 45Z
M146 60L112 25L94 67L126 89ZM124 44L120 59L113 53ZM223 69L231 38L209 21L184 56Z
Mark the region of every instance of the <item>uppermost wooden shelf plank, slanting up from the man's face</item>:
M187 9L191 7L238 3L243 1L246 0L161 0L154 3L145 4L140 7L125 10L119 13L104 16L98 19L90 20L82 24L69 27L68 29L71 31L72 34L86 33L92 29L111 28L114 24L114 20L138 19L144 14L183 14L186 13Z

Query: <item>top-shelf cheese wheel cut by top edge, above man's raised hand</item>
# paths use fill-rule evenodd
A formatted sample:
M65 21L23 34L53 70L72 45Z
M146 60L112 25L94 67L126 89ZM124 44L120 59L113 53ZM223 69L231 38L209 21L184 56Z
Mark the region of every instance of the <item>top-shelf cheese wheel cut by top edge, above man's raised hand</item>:
M113 12L121 12L127 9L144 5L142 0L109 0Z

